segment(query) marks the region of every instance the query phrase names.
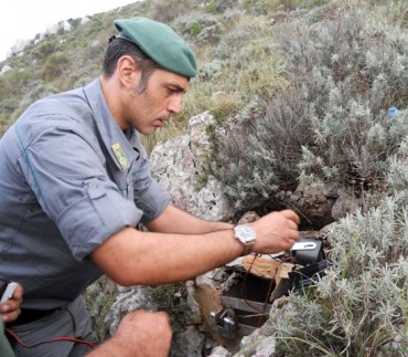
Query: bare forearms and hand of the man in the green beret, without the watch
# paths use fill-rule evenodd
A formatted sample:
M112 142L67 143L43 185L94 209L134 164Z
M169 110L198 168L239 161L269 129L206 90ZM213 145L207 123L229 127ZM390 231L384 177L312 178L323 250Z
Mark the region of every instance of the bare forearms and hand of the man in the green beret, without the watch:
M170 213L172 218L187 216L174 213L174 210ZM197 220L186 218L181 222L187 228L179 230L179 222L174 224L176 233L170 233L170 221L161 217L154 220L148 227L155 230L153 232L124 228L95 249L90 259L114 282L132 286L185 281L222 266L243 253L243 244L235 238L230 223L197 223L200 229L195 229ZM299 239L299 222L296 212L284 210L248 223L257 234L253 250L272 254L290 249Z

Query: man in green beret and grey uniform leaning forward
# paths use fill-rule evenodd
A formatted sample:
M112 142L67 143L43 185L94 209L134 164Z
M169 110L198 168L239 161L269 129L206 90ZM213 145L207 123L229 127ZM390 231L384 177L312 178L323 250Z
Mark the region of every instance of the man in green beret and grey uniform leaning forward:
M152 134L180 113L195 56L162 23L133 18L114 24L118 35L101 76L34 103L0 140L0 266L24 287L11 328L30 345L88 338L80 294L103 273L126 286L179 282L250 251L288 250L299 239L291 210L233 229L169 203L137 132ZM55 345L35 351L83 353L76 351L80 344Z

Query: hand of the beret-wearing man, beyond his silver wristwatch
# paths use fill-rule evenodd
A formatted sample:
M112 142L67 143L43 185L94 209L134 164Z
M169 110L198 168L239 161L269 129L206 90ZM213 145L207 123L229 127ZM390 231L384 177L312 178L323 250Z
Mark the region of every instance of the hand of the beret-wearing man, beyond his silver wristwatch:
M253 251L272 254L290 249L299 240L299 216L292 210L283 210L264 216L249 223L257 233Z

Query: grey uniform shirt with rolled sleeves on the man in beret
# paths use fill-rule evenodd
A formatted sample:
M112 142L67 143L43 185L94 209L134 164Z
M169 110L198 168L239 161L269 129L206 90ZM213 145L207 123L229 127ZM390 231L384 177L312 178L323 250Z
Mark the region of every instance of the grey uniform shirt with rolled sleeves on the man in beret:
M62 306L101 274L89 253L168 203L99 80L41 99L0 140L0 276L23 285L25 308Z

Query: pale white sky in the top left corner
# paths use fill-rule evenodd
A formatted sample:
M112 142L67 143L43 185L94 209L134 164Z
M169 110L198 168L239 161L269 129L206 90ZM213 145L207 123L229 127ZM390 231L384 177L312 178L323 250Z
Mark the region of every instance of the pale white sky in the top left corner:
M17 40L32 40L62 20L84 18L138 0L11 0L0 11L0 61Z

